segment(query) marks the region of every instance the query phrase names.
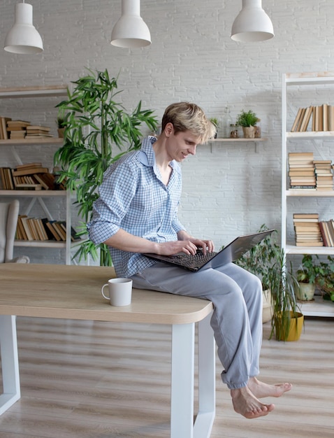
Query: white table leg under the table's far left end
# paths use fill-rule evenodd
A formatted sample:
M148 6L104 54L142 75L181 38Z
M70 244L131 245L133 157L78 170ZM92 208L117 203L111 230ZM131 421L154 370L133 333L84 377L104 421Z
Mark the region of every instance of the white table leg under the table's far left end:
M15 318L11 315L0 315L0 353L3 385L3 394L0 395L0 415L21 397Z

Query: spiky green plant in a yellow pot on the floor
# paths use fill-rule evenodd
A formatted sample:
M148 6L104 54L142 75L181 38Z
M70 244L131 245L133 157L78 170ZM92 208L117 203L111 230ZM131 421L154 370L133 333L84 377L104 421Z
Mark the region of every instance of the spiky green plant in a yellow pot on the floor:
M297 341L303 329L304 316L296 300L299 284L292 266L286 267L284 250L277 251L269 274L273 319L269 339L275 334L278 341Z

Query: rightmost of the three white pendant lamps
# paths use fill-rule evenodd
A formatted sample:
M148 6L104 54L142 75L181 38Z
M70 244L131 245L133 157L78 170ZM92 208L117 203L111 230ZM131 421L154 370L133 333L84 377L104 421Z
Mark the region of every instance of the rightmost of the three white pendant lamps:
M265 41L274 36L273 23L262 9L261 0L242 0L242 10L232 25L234 41Z

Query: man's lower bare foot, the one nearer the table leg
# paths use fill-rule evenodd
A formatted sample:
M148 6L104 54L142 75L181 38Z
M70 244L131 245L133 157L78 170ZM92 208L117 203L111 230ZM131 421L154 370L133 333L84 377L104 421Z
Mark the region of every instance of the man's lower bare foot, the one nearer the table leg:
M231 397L235 412L245 418L262 417L268 415L275 408L275 404L263 404L257 400L247 386L232 389Z

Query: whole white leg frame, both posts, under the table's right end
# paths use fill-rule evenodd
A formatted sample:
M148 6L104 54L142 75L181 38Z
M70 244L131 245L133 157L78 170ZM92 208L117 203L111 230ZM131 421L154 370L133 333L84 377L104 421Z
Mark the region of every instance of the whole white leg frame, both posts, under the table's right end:
M211 314L198 323L198 414L194 424L194 324L173 325L170 438L210 438L215 421Z

